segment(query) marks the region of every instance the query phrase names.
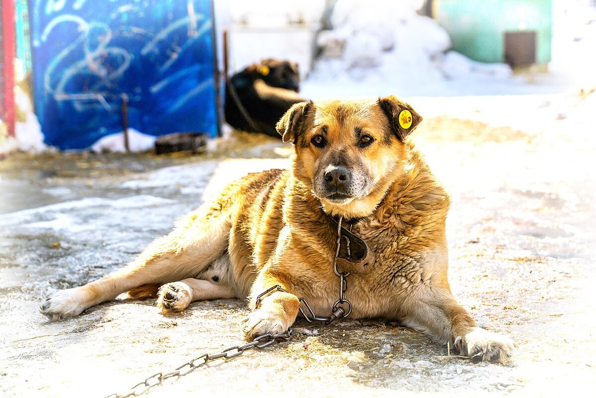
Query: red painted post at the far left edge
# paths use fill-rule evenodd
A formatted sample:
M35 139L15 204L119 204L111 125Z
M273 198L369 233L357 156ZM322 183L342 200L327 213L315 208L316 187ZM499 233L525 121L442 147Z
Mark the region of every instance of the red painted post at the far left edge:
M4 115L3 119L8 126L8 135L14 136L15 105L14 105L14 64L15 38L14 38L14 10L15 0L2 0L2 63L4 63Z

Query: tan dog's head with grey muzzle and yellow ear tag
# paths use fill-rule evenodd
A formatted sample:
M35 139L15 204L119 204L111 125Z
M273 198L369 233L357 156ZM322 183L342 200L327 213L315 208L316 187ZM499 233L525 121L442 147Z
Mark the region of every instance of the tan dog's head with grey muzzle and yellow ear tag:
M293 173L325 212L373 213L407 160L404 141L422 118L393 95L374 100L300 102L277 123L296 150Z

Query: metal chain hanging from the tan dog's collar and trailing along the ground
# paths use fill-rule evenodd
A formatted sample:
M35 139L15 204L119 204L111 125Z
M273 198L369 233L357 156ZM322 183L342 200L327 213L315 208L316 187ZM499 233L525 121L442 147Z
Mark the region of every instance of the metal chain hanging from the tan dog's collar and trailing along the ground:
M346 276L350 275L350 273L349 272L340 272L339 268L337 268L337 262L336 262L337 256L339 256L340 242L342 240L342 220L343 220L343 218L339 217L339 220L337 221L337 240L336 240L337 248L336 248L335 258L333 260L333 270L336 273L336 275L339 276L339 278L340 278L339 300L337 300L333 304L333 307L331 307L331 315L330 316L316 316L315 313L313 312L313 310L311 309L311 306L308 304L308 301L306 301L305 298L303 298L303 297L299 297L298 300L300 301L300 304L301 304L299 307L300 313L308 322L325 322L325 324L330 324L331 322L335 321L336 319L346 318L346 316L349 316L350 313L352 313L352 303L350 303L350 301L348 301L345 297L345 293L347 290ZM349 242L349 240L347 240L347 238L346 238L346 242L347 242L347 253L348 253L348 255L350 255L350 242ZM266 296L269 296L269 294L274 293L275 291L283 291L285 293L290 293L287 290L285 290L283 287L281 287L280 285L272 286L272 287L268 288L267 290L263 291L263 293L259 294L259 296L257 296L257 298L254 302L255 307L256 308L259 307L259 304L263 300L263 298ZM305 307L306 310L303 309L303 307ZM176 368L172 372L167 372L167 373L157 372L156 374L151 375L150 377L146 378L144 381L141 381L141 383L136 384L128 392L126 392L124 394L117 394L117 393L110 394L105 398L138 397L138 396L146 393L148 390L155 387L156 385L162 384L164 380L167 380L171 377L185 376L185 375L189 374L190 372L193 372L195 369L198 369L201 366L207 365L207 363L212 360L220 359L220 358L231 359L231 358L243 355L246 350L251 350L254 348L262 349L262 348L270 346L271 344L274 344L274 343L280 343L281 341L290 341L291 338L292 338L292 329L291 328L288 328L288 330L285 331L284 333L262 334L262 335L255 337L254 340L251 341L250 343L244 344L244 346L229 347L228 349L225 349L221 353L218 353L218 354L203 354L203 355L197 356L196 358L189 360L188 362L184 363L183 365L178 366L178 368ZM235 352L234 352L234 350L235 350Z

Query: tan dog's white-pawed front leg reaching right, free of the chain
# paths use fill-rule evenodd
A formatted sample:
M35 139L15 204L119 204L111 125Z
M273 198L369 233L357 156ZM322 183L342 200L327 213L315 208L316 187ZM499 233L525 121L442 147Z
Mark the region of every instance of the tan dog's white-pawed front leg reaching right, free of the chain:
M510 338L479 328L449 288L433 286L418 291L405 301L402 310L406 325L433 335L437 341L449 341L461 355L474 360L504 363L515 350Z

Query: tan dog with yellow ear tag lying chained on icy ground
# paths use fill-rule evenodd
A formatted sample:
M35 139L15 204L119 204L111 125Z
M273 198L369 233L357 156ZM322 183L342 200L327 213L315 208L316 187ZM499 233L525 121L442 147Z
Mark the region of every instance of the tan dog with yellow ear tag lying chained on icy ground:
M283 332L299 313L297 297L317 315L330 313L339 294L331 217L342 216L376 258L349 275L351 318L399 320L451 342L462 355L507 360L511 340L477 327L449 289L449 197L406 139L420 121L393 96L293 105L277 125L284 141L294 143L290 170L233 182L131 264L58 291L41 312L52 319L75 316L141 285L164 284L157 299L162 310L249 297L247 337ZM289 293L275 291L256 308L256 297L274 285Z

